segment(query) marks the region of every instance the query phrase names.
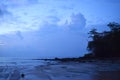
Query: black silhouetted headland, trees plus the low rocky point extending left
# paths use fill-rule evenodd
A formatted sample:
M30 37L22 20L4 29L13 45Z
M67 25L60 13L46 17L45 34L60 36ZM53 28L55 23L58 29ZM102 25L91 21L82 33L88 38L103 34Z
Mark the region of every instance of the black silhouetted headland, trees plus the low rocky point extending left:
M88 54L79 58L55 58L66 61L94 61L94 60L118 60L120 59L120 24L112 22L107 25L110 30L97 32L92 29L88 34L92 39L88 42Z

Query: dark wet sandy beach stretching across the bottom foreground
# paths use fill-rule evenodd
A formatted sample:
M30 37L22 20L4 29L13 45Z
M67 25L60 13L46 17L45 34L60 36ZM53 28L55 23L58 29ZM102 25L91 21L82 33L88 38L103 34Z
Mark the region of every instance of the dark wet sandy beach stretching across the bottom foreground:
M120 80L120 63L23 60L1 65L0 80Z

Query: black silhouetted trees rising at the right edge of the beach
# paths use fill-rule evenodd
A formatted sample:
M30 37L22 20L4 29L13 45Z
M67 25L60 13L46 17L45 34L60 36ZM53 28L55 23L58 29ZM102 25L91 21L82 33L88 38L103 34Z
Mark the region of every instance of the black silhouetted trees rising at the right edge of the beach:
M88 50L95 57L120 57L120 24L112 22L107 25L110 31L89 32L92 41L88 42Z

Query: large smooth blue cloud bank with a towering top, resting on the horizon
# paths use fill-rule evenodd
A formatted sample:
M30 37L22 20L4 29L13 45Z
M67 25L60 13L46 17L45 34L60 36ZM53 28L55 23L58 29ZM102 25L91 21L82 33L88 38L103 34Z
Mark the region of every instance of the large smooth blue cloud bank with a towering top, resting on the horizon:
M51 16L50 18L56 18ZM87 34L80 32L74 34L71 32L74 28L85 27L85 22L81 14L72 15L69 24L58 25L57 21L53 24L49 21L44 22L44 25L37 31L20 32L17 31L10 38L4 38L7 44L6 48L2 49L1 54L6 56L32 56L32 57L78 57L86 52ZM79 19L80 18L80 19ZM69 25L69 26L68 26ZM70 29L65 30L68 27ZM9 35L10 36L10 35ZM24 37L23 37L24 36ZM20 39L18 39L19 37ZM24 38L24 39L23 39ZM9 48L8 48L9 47Z

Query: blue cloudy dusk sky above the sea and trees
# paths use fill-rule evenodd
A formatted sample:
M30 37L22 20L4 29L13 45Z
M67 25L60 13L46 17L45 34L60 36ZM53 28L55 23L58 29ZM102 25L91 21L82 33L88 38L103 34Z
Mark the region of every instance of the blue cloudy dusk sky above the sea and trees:
M0 57L79 57L88 32L120 22L120 0L1 0Z

